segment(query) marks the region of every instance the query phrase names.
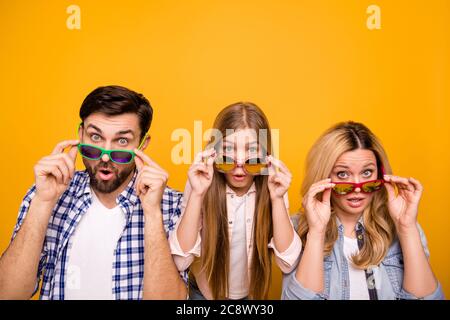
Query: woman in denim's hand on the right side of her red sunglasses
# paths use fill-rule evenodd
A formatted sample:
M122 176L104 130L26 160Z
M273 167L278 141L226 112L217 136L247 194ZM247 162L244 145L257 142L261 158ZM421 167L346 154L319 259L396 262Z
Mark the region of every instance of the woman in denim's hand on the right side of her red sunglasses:
M402 178L385 175L385 187L388 193L388 209L398 231L415 228L417 213L423 187L414 178ZM398 194L395 194L395 187Z

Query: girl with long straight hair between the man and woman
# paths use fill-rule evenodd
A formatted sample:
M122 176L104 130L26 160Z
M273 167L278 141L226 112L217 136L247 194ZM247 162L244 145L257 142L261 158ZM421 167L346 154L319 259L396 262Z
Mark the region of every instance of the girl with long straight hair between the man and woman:
M190 299L265 299L272 251L284 272L301 251L288 214L291 173L270 156L269 123L255 104L226 107L213 128L213 148L188 173L172 255L179 270L190 267Z

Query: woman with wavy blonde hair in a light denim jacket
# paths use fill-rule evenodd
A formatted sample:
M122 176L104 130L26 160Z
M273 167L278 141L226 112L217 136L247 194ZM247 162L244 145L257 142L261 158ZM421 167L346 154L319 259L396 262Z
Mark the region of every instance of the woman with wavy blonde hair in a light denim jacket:
M285 276L283 299L443 299L417 224L422 185L392 175L363 124L338 124L307 157L304 248Z

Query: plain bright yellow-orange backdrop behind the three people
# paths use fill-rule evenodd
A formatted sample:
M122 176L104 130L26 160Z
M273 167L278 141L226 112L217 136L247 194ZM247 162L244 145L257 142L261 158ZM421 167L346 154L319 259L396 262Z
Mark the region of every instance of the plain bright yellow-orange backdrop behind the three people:
M81 8L81 30L66 27L71 4ZM381 30L366 27L370 4L381 8ZM315 139L338 121L364 122L394 172L425 186L419 221L449 297L449 36L448 0L1 0L0 251L34 164L75 138L91 90L120 84L152 103L147 154L178 189L188 166L171 162L172 131L193 132L194 120L209 128L232 102L259 104L294 174L292 212ZM280 279L276 270L273 299Z

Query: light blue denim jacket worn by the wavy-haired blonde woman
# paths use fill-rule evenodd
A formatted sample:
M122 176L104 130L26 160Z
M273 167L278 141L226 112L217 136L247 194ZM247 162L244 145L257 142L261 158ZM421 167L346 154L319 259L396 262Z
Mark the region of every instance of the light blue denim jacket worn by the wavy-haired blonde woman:
M299 216L292 217L294 226L298 225ZM303 287L295 277L296 270L283 275L282 299L286 300L348 300L350 299L348 262L344 255L344 227L338 221L339 236L330 255L324 258L324 280L323 293L315 293ZM364 228L362 221L358 223L359 228ZM358 228L357 227L357 228ZM422 228L418 225L420 238L429 257L427 241ZM396 238L383 259L377 267L372 269L375 278L375 287L379 300L392 299L418 299L403 289L403 254L398 238ZM444 293L440 283L436 290L422 299L439 300L444 299Z

